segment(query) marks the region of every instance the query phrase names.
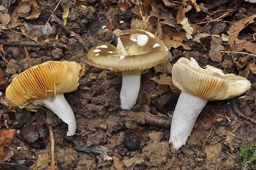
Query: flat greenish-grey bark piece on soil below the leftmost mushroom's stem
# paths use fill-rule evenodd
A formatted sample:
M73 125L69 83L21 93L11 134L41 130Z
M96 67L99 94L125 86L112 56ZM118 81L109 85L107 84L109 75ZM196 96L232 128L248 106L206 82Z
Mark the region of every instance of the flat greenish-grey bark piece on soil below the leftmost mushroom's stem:
M88 147L86 144L82 144L82 143L75 143L75 149L82 152L86 152L86 153L94 153L96 155L100 155L101 153L104 153L104 152L107 152L108 156L111 156L113 154L113 151L109 150L107 147L103 147L103 146Z

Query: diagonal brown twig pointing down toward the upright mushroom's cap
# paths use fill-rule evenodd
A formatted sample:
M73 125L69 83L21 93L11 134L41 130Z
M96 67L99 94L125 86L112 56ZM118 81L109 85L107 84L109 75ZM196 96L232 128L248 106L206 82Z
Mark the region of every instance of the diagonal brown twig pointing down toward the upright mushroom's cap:
M85 45L85 42L81 36L76 34L74 31L70 30L69 27L64 26L63 23L60 21L60 19L55 15L52 15L52 22L59 24L68 34L70 34L71 36L74 36L74 38L78 40L78 42L83 46L84 50L88 53L89 48Z

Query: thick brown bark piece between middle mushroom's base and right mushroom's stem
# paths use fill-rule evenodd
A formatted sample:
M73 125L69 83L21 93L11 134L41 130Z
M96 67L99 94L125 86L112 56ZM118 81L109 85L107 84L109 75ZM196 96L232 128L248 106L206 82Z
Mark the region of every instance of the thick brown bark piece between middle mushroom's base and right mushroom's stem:
M132 110L118 110L116 114L120 117L128 117L133 121L137 121L139 124L146 124L161 128L171 128L171 119L168 117L156 116L150 113Z

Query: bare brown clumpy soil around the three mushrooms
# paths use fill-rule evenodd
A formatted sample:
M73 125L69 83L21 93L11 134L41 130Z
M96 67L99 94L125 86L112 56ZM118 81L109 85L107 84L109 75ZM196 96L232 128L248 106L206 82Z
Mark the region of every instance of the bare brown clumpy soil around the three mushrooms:
M241 5L239 2L234 3ZM50 6L53 5L53 3L54 2L51 2ZM85 28L80 32L80 36L84 39L89 48L101 43L117 44L117 39L113 31L109 28L102 29L102 26L109 25L114 21L114 13L118 13L115 16L117 16L117 22L120 27L127 29L130 29L131 20L136 16L132 13L131 9L120 11L115 8L117 3L111 4L111 8L109 8L109 4L107 3L104 4L105 8L102 5L101 8L95 7L95 3L89 3L86 5L87 8L77 7L75 9L72 8L73 1L64 0L63 3L65 5L69 4L71 8L66 26L77 32L80 28L77 21L81 21L85 24ZM40 8L50 10L49 6L43 1L39 0L38 4ZM14 3L10 10L14 10L17 6L18 2ZM105 11L103 11L103 9L105 9ZM252 7L247 10L251 13L250 15L256 12ZM55 12L59 13L62 12L62 10L57 9ZM43 10L39 18L27 20L26 22L35 25L45 24L50 15L51 13ZM123 23L120 23L120 21L123 21ZM55 25L55 23L51 22L50 24ZM58 25L56 25L56 27L57 30L60 28ZM226 31L226 27L226 24L218 23L205 27L204 31L207 30L207 32L211 34L220 34ZM86 60L87 52L84 50L83 46L63 29L60 30L58 39L55 39L52 35L44 36L45 39L49 39L50 42L65 43L67 49L32 47L29 50L29 54L33 66L41 64L43 61L65 60L84 64L86 68L85 76L80 79L78 89L65 94L65 98L71 105L76 117L76 134L67 136L68 125L63 123L58 116L45 107L39 109L38 112L12 107L12 111L14 110L15 112L8 112L10 120L13 120L9 124L11 129L21 131L21 128L24 126L36 125L36 130L42 131L42 134L40 133L40 137L37 136L35 142L38 144L37 147L33 147L33 144L26 144L15 135L10 145L14 153L10 162L24 159L36 160L38 155L41 155L46 150L51 150L49 130L43 120L43 114L45 114L46 118L48 120L50 119L52 122L55 139L55 158L57 159L59 170L119 170L114 161L112 159L106 159L103 153L86 153L77 150L75 149L76 143L86 144L88 147L106 147L113 151L109 156L111 158L118 158L121 161L121 163L119 163L125 170L219 170L227 160L230 162L232 170L240 170L242 168L242 160L237 159L236 153L243 143L248 143L256 134L256 125L238 116L232 101L234 101L238 110L245 116L256 119L256 76L254 74L249 73L248 76L248 80L251 82L251 88L244 94L247 95L248 98L238 99L243 96L241 95L229 100L209 101L198 117L185 146L176 150L168 143L169 128L161 125L148 125L145 121L138 120L136 117L120 116L119 94L122 83L121 72L98 69L88 65ZM246 33L244 33L243 36L243 38L249 38L249 35ZM15 33L12 30L5 30L5 33L2 32L0 37L1 39L20 41L25 41L26 39L24 35ZM210 40L205 42L205 44L209 46ZM4 46L3 49L6 52L5 59L8 63L4 60L0 61L0 66L7 78L7 84L9 85L13 77L29 68L29 64L24 53L24 47ZM195 52L197 49L193 49L193 47L191 47L191 49L192 50L186 50L186 52L191 52L191 54L184 54L183 57L190 58L193 56L201 67L209 64L222 70L231 69L236 75L245 75L244 69L238 71L231 60L224 60L226 59L224 58L220 65L216 61L212 61L209 58L206 59L205 55L208 55L209 49L204 52L200 50L198 53ZM174 58L182 54L184 49L180 46L177 49L171 48L170 52ZM240 54L236 57L239 58L243 56L239 55ZM169 63L173 65L175 61L170 60ZM165 73L166 76L171 76L169 70L156 72L154 68L142 74L142 82L147 80L151 84L154 84L152 88L146 87L149 94L153 90L163 91L149 98L147 102L137 102L136 106L133 108L134 113L139 114L140 112L144 112L152 115L163 115L165 117L172 115L179 93L172 91L168 85L160 85L150 80L150 78L159 77L163 73ZM145 85L143 83L141 84ZM3 92L1 97L5 99L5 92L1 92ZM215 123L212 122L213 124L210 123L212 126L203 126L203 124L205 124L203 118L206 117L209 119L211 115L215 115L215 120L218 121ZM171 120L170 117L168 118ZM239 126L241 123L243 124ZM237 127L239 128L236 129ZM231 133L234 134L233 138L228 141L227 136ZM140 147L136 151L128 151L124 147L124 139L128 134L135 134L140 139ZM34 138L34 136L28 136L28 138ZM127 164L124 163L125 160L134 159L135 157L142 158L143 162L141 161L135 166L131 165L127 167Z

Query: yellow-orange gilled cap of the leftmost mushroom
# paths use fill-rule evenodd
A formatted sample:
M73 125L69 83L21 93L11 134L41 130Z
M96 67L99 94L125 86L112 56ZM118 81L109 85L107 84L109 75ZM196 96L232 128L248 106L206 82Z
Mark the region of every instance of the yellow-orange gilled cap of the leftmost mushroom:
M85 66L74 61L48 61L31 67L18 76L6 89L6 97L21 109L35 111L44 105L36 99L76 90Z

